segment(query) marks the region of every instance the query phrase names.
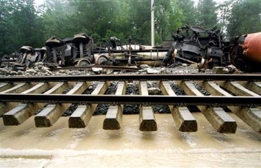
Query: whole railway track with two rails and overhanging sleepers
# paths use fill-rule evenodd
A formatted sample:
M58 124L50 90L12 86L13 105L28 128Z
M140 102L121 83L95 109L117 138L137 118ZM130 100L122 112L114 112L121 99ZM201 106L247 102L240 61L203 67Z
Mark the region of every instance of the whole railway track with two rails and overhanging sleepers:
M116 91L105 94L112 81L117 81ZM160 95L149 94L149 81L157 83ZM85 94L94 82L94 90ZM128 83L133 82L138 83L138 94L125 94ZM185 94L177 95L173 83ZM34 117L36 127L51 127L75 103L68 127L83 128L99 104L109 104L103 129L121 129L124 105L134 104L139 107L140 131L156 131L152 106L167 105L180 132L196 132L198 123L188 108L192 105L220 133L236 132L232 112L261 134L260 95L260 74L1 77L0 115L4 125L21 125Z

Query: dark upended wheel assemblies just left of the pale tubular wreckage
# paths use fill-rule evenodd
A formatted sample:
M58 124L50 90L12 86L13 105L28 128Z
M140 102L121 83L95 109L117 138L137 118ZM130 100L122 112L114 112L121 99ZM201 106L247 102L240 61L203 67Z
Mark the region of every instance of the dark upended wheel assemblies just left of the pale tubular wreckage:
M76 34L73 38L61 40L52 36L45 42L46 63L58 66L87 66L93 62L93 40L86 34Z

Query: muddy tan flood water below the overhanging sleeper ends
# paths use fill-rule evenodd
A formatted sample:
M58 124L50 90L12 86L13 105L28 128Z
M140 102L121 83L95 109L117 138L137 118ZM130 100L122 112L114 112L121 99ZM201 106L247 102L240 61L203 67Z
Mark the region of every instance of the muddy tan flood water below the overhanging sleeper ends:
M220 134L193 115L193 133L178 132L171 114L156 114L156 132L140 132L138 115L124 115L118 131L102 129L105 116L84 129L68 128L67 117L48 128L33 117L19 126L0 118L0 167L261 167L261 135L237 116L236 134Z

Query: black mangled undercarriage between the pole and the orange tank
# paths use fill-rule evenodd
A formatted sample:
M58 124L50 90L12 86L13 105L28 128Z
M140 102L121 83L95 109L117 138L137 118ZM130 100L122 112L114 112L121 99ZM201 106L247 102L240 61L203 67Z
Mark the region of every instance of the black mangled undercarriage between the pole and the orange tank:
M217 27L206 30L185 25L178 28L172 37L174 41L163 60L165 65L175 58L202 63L202 67L222 65L222 36Z

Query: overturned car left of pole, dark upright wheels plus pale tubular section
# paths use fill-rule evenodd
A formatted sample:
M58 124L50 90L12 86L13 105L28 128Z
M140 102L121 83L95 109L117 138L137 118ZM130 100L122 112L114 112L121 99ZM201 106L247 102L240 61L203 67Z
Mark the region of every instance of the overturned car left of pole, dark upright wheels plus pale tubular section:
M101 41L97 46L93 39L84 33L63 40L52 36L45 42L45 45L45 54L48 56L44 62L62 67L83 67L90 64L123 65L141 61L155 61L156 59L162 63L167 52L167 49L147 48L147 46L138 45L131 40L123 44L120 39L114 36L109 40ZM164 52L164 55L161 55L161 60L159 52Z

